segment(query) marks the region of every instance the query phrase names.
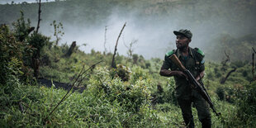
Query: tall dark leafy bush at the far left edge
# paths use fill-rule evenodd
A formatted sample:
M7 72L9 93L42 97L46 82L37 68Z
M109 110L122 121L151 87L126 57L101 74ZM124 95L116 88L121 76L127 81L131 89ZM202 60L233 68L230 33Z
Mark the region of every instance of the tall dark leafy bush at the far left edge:
M7 84L9 79L27 75L28 69L23 64L23 55L26 44L19 42L9 31L8 26L0 26L0 81L2 85Z

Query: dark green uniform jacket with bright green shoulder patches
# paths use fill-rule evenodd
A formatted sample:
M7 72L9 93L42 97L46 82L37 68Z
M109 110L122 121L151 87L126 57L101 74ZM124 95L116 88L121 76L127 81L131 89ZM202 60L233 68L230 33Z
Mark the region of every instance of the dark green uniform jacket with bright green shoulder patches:
M192 75L196 78L199 73L205 70L204 65L204 53L195 48L192 49L189 47L188 50L189 55L187 57L183 57L180 50L171 50L169 51L164 58L164 64L162 65L162 69L171 69L171 70L180 70L176 64L173 64L172 60L169 57L173 54L177 55L178 59L182 62L186 69L188 69ZM186 78L179 78L174 76L176 83L176 97L188 99L192 96L192 88L187 82Z

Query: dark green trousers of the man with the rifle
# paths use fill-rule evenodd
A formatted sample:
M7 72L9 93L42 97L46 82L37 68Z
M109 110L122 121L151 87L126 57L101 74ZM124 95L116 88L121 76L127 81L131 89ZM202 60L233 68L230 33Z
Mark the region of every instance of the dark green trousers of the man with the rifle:
M183 119L185 124L189 128L195 127L192 116L192 102L193 106L197 109L197 116L201 121L202 128L211 128L211 113L209 104L198 94L196 91L192 91L190 98L178 98L178 105L183 112Z

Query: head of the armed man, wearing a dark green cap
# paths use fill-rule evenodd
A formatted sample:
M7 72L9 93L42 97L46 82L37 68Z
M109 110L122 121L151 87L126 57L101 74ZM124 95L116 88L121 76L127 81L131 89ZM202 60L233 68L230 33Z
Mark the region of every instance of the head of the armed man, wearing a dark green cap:
M187 30L179 30L179 31L173 31L174 35L176 35L176 47L178 49L186 48L192 39L192 33L191 31Z

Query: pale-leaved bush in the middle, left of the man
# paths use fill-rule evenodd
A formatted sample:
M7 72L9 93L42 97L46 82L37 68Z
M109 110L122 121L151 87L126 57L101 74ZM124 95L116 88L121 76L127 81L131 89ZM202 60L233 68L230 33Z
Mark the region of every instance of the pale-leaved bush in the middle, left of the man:
M107 68L97 68L89 80L88 88L95 92L105 92L111 101L121 103L127 111L139 111L140 107L149 104L149 79L137 79L134 84L123 82L121 78L111 79Z

